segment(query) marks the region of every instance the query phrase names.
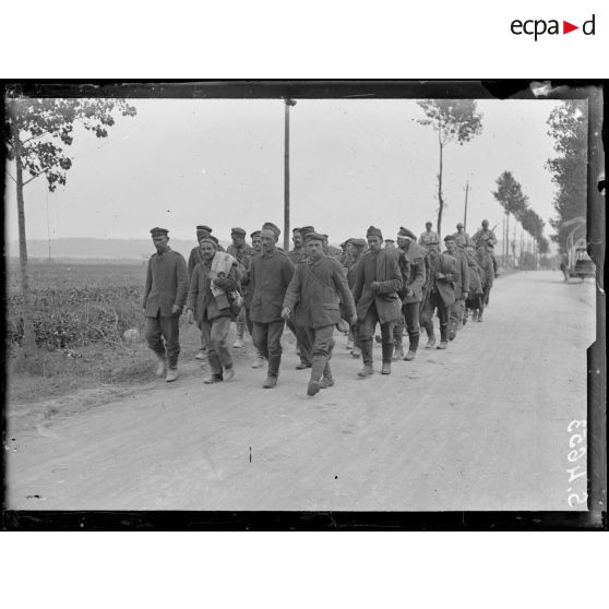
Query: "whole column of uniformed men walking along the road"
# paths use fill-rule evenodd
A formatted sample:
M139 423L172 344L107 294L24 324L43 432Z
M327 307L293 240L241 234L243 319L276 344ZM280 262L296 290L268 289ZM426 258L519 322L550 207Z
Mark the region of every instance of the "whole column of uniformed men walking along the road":
M280 230L272 223L250 235L251 247L246 230L234 228L226 251L212 228L202 225L188 265L170 249L168 232L151 230L156 253L148 261L143 301L146 341L158 358L156 374L168 382L178 378L182 313L201 331L195 357L208 362L204 383L235 377L227 344L235 321L234 347L244 346L247 327L256 351L252 368L266 367L262 386L275 387L287 325L296 336L297 369L310 369L307 394L315 395L334 385L335 329L348 334L347 349L362 360L359 378L374 373L374 339L382 347L381 373L391 374L392 361L416 358L420 327L427 333L426 349L446 349L469 318L481 322L498 276L497 238L488 220L471 238L459 223L454 235L444 237L444 252L431 223L418 240L404 227L395 240L383 240L381 230L370 226L366 239L347 239L339 253L313 226L295 228L294 249L286 253L277 247ZM377 324L381 333L375 336Z

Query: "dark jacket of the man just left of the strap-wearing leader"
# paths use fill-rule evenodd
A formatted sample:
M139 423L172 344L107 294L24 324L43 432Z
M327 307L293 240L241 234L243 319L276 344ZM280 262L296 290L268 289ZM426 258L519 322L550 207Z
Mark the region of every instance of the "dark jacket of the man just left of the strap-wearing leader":
M294 275L294 264L279 249L251 259L250 319L259 323L280 321L286 289Z

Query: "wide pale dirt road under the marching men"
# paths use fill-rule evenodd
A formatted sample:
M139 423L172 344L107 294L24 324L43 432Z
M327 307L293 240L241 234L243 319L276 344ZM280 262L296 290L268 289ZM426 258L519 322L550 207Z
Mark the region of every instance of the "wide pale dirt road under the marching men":
M9 427L8 506L584 510L569 497L584 495L585 476L566 473L585 469L585 457L568 461L582 423L568 426L586 417L594 299L594 284L560 273L506 276L483 323L390 377L356 379L360 363L337 335L336 385L313 398L291 345L273 391L246 358L234 382L214 385L190 362L176 383ZM379 370L378 346L374 357Z

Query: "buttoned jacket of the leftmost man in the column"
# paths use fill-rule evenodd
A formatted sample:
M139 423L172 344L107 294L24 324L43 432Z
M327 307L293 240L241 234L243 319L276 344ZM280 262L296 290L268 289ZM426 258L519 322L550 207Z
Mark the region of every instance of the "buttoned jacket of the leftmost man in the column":
M184 306L188 294L188 270L182 254L169 250L164 254L155 253L148 260L146 285L144 287L145 315L169 318L171 308Z

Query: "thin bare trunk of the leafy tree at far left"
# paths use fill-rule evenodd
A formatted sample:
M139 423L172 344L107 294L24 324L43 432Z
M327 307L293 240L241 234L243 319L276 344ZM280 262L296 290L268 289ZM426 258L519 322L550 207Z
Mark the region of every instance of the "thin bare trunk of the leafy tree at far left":
M34 314L32 307L32 294L29 291L29 276L27 271L27 242L25 240L25 206L23 202L23 168L21 165L21 140L19 139L19 127L16 123L16 111L13 123L13 138L15 142L16 164L16 195L17 195L17 222L19 222L19 261L21 271L21 295L23 299L23 344L26 355L34 355L36 350L36 335L34 333Z

